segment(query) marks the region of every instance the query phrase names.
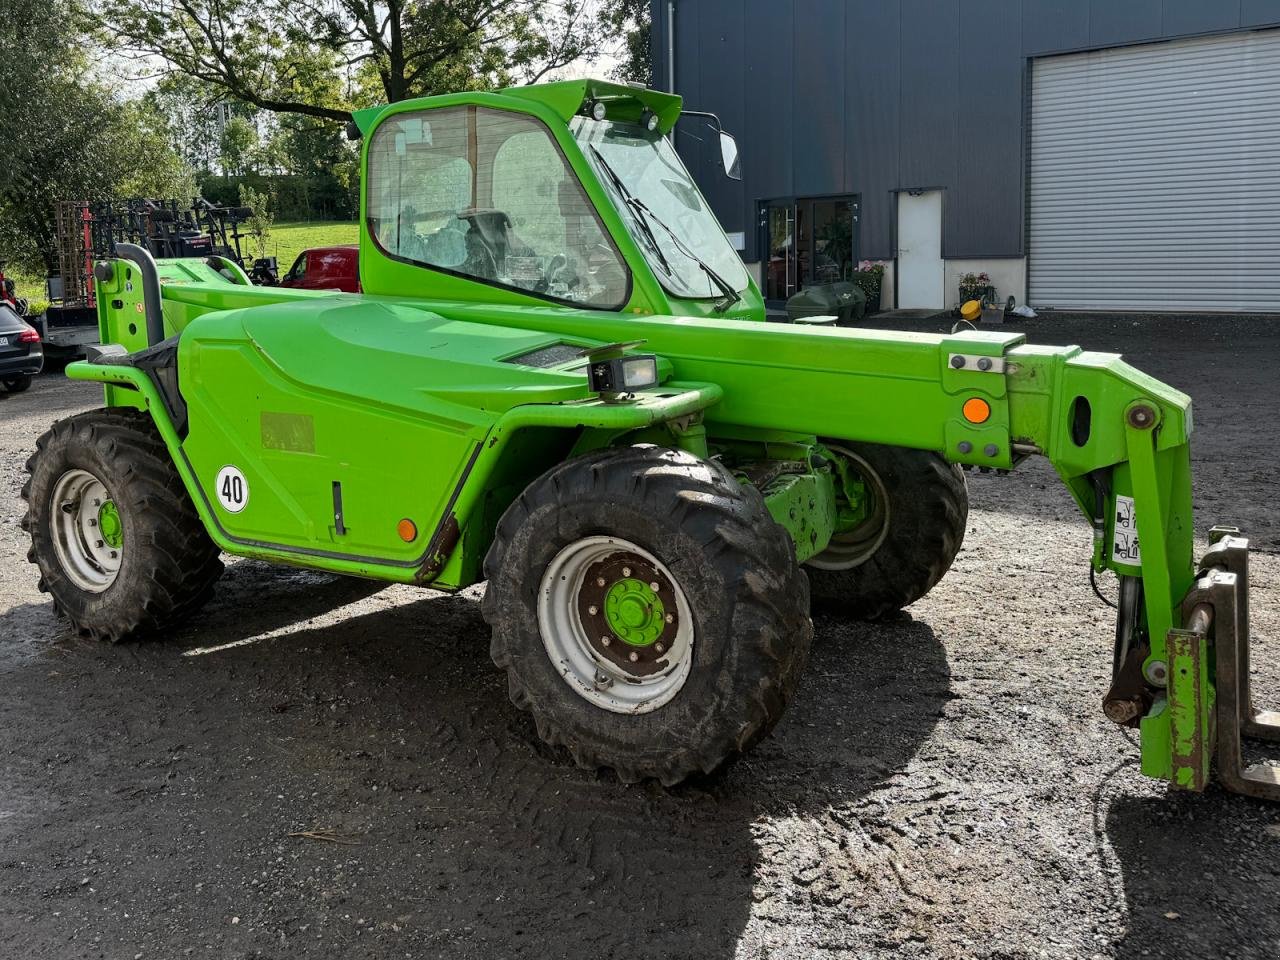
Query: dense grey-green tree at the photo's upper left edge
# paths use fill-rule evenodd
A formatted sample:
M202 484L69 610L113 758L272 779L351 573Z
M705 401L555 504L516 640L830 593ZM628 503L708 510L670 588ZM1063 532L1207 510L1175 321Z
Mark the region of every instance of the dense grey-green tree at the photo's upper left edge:
M84 55L77 0L8 0L0 17L0 257L58 268L55 205L191 196L164 118L118 101Z

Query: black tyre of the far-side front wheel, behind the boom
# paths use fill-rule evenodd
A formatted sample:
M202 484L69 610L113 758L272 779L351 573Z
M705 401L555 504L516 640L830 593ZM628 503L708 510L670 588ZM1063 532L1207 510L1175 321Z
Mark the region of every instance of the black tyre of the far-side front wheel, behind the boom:
M863 476L873 509L859 529L809 561L814 604L844 617L882 620L924 596L951 568L969 518L964 474L928 451L826 443Z

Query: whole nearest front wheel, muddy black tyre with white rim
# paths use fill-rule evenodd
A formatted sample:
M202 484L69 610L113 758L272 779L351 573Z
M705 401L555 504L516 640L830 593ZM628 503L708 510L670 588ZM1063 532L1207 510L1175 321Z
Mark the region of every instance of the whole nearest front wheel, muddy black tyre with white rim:
M484 616L511 700L581 767L710 773L778 722L809 653L786 531L718 463L628 447L562 463L507 509Z

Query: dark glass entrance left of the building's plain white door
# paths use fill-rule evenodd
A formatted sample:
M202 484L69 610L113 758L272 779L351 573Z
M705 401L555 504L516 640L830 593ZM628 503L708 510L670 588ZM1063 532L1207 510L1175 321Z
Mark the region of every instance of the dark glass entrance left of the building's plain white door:
M856 197L785 197L760 204L764 300L781 308L805 287L858 269Z

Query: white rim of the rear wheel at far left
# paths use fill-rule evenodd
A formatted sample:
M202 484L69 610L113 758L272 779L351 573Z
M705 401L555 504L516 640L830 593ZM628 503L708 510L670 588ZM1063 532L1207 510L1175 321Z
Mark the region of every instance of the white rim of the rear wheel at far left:
M123 539L104 535L104 504L113 507L106 486L87 470L68 470L50 498L50 531L58 563L81 590L100 594L115 582L124 557ZM119 511L115 511L116 517Z

